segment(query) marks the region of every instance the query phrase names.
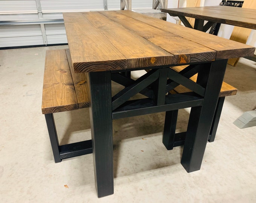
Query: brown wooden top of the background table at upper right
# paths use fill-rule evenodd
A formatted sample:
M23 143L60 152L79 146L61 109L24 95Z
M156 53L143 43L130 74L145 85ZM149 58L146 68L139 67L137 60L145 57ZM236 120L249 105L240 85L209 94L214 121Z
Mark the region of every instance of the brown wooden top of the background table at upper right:
M224 23L239 27L256 29L256 9L239 8L233 6L204 6L191 8L168 8L162 12L171 16L186 16L201 20Z

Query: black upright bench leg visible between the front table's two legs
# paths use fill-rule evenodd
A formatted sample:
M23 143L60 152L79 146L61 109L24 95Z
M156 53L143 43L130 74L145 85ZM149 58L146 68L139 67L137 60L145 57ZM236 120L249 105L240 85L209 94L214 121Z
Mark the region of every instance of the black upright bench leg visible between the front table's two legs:
M166 111L165 127L163 130L163 144L167 150L174 147L175 129L177 124L178 110Z

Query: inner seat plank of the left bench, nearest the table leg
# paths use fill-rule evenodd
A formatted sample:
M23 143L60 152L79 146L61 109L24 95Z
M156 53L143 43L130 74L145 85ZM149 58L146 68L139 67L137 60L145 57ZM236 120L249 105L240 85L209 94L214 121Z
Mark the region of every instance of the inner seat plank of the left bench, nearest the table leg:
M70 73L72 75L72 80L74 83L76 97L78 101L79 109L89 107L89 98L88 98L88 91L87 91L87 78L85 73L75 73L72 67L72 61L70 58L70 51L66 49L67 60L70 66Z

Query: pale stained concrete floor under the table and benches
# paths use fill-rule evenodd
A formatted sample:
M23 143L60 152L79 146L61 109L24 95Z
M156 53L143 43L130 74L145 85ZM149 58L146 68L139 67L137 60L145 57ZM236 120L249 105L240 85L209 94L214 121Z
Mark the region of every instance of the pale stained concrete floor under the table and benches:
M225 81L226 98L215 142L200 171L180 164L182 147L162 144L164 114L115 120L114 195L98 199L92 155L55 164L41 113L44 57L40 47L0 50L0 202L256 202L256 127L233 124L256 108L256 63L240 59ZM188 109L177 131L186 130ZM55 114L60 144L90 138L88 109ZM66 185L66 187L65 187Z

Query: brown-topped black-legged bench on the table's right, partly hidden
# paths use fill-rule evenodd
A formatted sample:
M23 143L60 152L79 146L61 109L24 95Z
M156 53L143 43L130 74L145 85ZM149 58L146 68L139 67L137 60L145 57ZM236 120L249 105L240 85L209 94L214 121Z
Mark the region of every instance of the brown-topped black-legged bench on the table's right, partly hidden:
M171 67L173 70L180 72L187 66L178 66L178 67ZM190 79L194 82L197 81L197 74L190 77ZM184 93L184 92L191 92L190 89L179 85L173 90L170 91L171 94L177 93ZM217 127L219 124L219 119L221 116L222 107L224 104L224 100L226 96L236 95L237 89L233 86L227 84L226 82L222 83L221 91L219 93L219 100L216 107L215 115L212 122L212 127L210 130L210 134L208 137L209 142L213 142L215 139ZM168 150L171 150L173 147L177 147L184 144L184 140L186 137L186 132L175 133L176 124L177 124L177 116L178 110L166 112L165 120L169 120L169 122L165 122L164 132L163 132L163 144Z

